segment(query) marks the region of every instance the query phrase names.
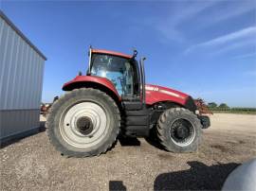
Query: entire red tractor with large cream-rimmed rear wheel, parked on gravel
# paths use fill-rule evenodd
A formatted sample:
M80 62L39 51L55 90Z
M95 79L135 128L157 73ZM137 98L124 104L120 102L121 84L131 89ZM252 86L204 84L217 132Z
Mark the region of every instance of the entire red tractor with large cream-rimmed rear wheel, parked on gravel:
M119 132L132 137L155 132L166 150L197 149L209 117L200 114L192 96L145 84L145 59L136 57L136 50L131 56L90 48L86 76L65 83L66 94L48 114L47 134L55 148L67 156L95 156L106 152Z

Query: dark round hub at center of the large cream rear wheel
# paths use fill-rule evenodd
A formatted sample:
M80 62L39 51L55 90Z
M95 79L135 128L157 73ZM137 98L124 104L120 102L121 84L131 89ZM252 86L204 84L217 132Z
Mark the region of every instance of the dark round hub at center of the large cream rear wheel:
M87 116L80 117L76 122L76 129L83 135L87 135L93 130L93 122L91 118Z

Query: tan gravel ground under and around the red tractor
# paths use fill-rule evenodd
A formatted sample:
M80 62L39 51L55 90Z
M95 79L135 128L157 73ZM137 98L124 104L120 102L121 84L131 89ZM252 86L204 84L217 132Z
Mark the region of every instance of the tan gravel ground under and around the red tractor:
M145 139L120 140L106 154L66 158L46 131L0 149L1 190L219 190L256 156L256 115L216 113L196 153L174 154Z

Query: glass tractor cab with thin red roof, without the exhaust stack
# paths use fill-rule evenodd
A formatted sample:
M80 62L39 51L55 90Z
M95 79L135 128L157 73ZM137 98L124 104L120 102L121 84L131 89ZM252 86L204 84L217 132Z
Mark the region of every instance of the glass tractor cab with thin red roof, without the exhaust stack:
M134 57L91 50L89 75L108 78L119 96L139 96L139 73Z

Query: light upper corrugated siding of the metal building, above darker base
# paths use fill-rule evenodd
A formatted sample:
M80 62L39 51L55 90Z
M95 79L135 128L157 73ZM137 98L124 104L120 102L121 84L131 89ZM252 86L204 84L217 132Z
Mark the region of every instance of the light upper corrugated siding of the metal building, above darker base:
M0 17L0 110L39 109L45 60Z

